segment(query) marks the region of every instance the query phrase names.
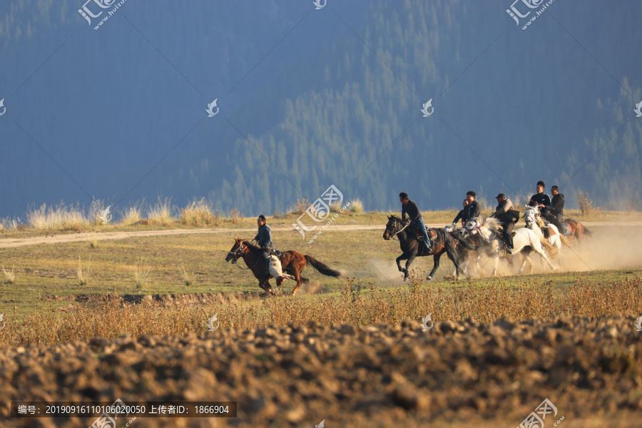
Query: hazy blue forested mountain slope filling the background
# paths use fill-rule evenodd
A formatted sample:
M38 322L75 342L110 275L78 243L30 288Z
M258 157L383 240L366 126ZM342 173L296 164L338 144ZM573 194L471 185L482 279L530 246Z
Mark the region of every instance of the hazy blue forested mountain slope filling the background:
M11 100L86 193L4 116L0 214L173 195L252 215L330 184L367 210L396 208L402 190L448 208L470 189L521 195L540 179L571 205L579 191L639 205L641 4L556 2L522 31L504 1L302 3L132 1L122 12L136 29L101 31L73 2L4 3L4 92L73 34ZM217 97L221 113L201 122Z

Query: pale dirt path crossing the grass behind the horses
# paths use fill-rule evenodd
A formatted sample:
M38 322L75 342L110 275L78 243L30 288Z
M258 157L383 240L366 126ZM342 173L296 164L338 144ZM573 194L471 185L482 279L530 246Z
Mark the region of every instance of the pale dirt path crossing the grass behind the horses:
M642 226L642 222L587 222L584 223L587 228L595 226ZM429 223L429 228L443 228L443 223ZM333 225L332 230L383 230L384 225ZM294 231L291 226L280 226L272 228L275 232ZM256 228L252 229L232 229L232 228L217 228L217 229L165 229L165 230L131 230L128 232L83 232L71 233L61 235L46 235L34 236L31 238L3 238L0 239L0 248L16 248L24 247L25 245L41 245L41 244L60 244L60 243L75 243L84 242L90 239L96 240L114 240L126 239L140 236L160 236L160 235L195 235L199 233L256 233Z

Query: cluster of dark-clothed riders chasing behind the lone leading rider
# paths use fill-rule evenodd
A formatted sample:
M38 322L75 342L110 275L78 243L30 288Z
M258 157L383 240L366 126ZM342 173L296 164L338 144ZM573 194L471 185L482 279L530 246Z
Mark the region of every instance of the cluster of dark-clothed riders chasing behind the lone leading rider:
M554 224L560 233L569 234L569 229L564 223L564 195L559 193L559 187L554 185L551 186L551 193L553 193L553 198L544 193L546 188L546 183L544 181L538 181L536 185L536 192L531 196L529 201L529 206L539 207L541 218L548 220L550 223ZM496 195L497 206L490 217L496 218L499 221L502 229L501 238L506 243L506 248L508 250L513 249L513 238L512 233L515 228L515 223L519 221L520 213L519 210L516 210L513 203L509 198L506 198L504 193L499 193ZM422 213L413 200L408 198L407 193L399 193L399 201L402 203L402 221L404 223L408 222L409 226L414 228L419 234L421 240L424 241L428 250L432 249L432 242L428 235L428 230L424 223L424 218ZM457 213L457 217L452 220L452 227L457 226L457 222L461 220L463 227L469 227L467 225L476 225L481 222L481 207L477 202L477 193L469 190L466 193L466 199L464 199L464 208ZM544 233L544 238L549 238L549 229L543 228L542 232Z

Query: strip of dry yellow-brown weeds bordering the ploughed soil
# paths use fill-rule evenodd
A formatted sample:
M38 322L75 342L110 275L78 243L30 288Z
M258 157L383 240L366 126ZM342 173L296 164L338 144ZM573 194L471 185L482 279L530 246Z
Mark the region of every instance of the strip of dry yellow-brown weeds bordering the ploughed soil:
M145 272L140 267L140 272ZM218 313L222 328L260 328L268 325L304 325L311 320L332 325L399 324L421 320L494 322L501 317L515 320L574 315L601 317L616 313L637 313L642 308L642 278L628 277L613 282L587 283L578 280L563 290L554 281L532 278L517 285L495 282L490 285L462 283L445 288L427 285L425 272L413 273L410 285L375 288L358 280L344 282L342 290L330 295L258 297L242 301L221 298L216 304L174 305L125 304L112 300L96 307L79 306L63 315L51 310L27 315L9 323L0 333L0 346L57 343L113 338L122 334L185 335L207 331L207 313Z

